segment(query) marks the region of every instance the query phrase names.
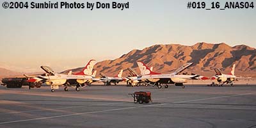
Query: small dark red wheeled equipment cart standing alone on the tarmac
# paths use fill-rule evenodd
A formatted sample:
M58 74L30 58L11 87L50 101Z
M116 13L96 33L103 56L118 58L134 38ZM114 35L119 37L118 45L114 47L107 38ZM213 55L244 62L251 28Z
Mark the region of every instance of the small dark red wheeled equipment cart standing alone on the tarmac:
M129 93L133 97L134 103L139 102L140 104L143 104L143 102L148 103L152 102L151 99L151 92L134 92L134 93Z

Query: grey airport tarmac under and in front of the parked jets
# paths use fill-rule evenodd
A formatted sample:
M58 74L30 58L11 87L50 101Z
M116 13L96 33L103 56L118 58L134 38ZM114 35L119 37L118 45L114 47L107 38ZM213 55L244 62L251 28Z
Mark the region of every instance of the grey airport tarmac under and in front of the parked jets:
M152 93L134 104L136 91ZM256 85L88 86L80 92L49 86L0 86L0 127L256 127Z

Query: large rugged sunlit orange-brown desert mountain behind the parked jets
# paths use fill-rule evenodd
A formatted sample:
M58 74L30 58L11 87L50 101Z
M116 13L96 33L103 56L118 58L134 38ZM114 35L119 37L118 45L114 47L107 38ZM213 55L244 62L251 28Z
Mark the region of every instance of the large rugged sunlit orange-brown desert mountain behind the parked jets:
M124 76L128 75L127 68L134 68L138 73L136 61L143 61L148 67L154 67L155 72L172 72L180 65L188 62L194 64L186 72L213 75L214 68L220 68L223 73L229 73L236 63L236 74L256 73L256 49L246 45L231 47L225 43L207 44L197 43L192 46L167 44L152 45L145 49L134 49L115 60L100 61L94 67L97 75L102 72L108 76L116 76L124 69ZM73 72L82 70L76 68Z

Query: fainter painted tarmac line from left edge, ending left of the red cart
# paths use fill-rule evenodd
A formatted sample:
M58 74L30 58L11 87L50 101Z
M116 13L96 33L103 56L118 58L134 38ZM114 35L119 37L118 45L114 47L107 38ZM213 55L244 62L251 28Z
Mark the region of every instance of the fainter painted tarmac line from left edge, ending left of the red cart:
M92 106L104 106L104 105L112 105L112 104L121 104L124 102L114 102L114 103L106 103L106 104L93 104ZM37 109L37 110L29 110L29 111L15 111L10 113L1 113L0 115L7 115L7 114L17 114L17 113L29 113L29 112L36 112L36 111L54 111L60 109L72 109L72 108L83 108L86 106L72 106L72 107L64 107L64 108L45 108L45 109Z

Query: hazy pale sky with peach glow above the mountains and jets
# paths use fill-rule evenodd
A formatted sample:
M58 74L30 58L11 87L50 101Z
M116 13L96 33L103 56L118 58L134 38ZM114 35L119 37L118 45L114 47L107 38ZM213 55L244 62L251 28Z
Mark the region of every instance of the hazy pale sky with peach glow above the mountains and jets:
M112 60L154 44L226 42L256 47L256 9L193 10L187 8L188 1L119 0L127 1L130 8L123 11L1 6L0 67L34 72L49 65L61 71L83 67L90 58Z

